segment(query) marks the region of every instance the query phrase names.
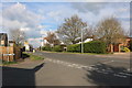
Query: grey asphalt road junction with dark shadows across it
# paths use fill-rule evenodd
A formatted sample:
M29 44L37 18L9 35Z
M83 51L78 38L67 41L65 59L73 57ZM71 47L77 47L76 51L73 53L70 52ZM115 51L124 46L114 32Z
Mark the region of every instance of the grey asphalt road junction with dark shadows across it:
M36 52L44 61L3 67L8 86L128 86L130 54L87 55Z

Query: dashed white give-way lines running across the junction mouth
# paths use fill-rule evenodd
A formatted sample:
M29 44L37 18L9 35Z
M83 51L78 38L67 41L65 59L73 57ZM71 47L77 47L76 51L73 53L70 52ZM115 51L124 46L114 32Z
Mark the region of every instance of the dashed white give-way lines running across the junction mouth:
M96 67L96 66L99 66L101 64L86 66L86 65L73 64L73 63L63 62L63 61L58 61L58 59L51 59L51 58L46 58L45 61L56 63L56 64L62 64L64 66L74 67L74 68L78 68L78 69L87 68L87 70L96 70L96 72L101 73L101 74L111 74L111 75L113 74L114 76L123 77L123 78L125 78L127 76L132 76L132 74L127 73L127 72L125 73L122 72L122 73L114 74L114 72L111 68L99 69L99 68ZM113 62L114 61L109 61L109 62L105 62L103 64L113 63ZM128 72L129 70L130 69L128 69Z

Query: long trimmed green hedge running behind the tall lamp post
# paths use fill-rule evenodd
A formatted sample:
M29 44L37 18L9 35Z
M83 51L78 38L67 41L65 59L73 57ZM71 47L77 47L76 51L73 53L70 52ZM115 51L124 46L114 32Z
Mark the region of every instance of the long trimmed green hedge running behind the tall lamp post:
M67 46L67 52L80 53L80 50L81 50L81 44L73 44L73 45ZM105 54L107 52L106 44L100 41L91 41L88 43L84 43L84 52Z

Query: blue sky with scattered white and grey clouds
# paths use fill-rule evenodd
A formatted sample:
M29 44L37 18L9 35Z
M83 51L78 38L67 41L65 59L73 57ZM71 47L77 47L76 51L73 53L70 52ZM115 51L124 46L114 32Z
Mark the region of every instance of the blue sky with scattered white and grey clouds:
M56 31L64 19L74 14L92 26L105 18L114 16L124 30L130 30L130 0L128 2L119 2L119 0L117 2L105 2L105 0L98 0L98 2L33 1L4 0L0 3L0 14L2 14L0 15L0 33L20 29L25 32L29 43L36 47L41 45L42 36L45 36L47 31Z

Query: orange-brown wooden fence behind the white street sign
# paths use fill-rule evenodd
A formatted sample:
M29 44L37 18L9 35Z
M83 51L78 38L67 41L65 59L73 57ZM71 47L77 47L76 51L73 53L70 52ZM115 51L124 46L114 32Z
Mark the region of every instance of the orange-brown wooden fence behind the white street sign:
M18 46L0 46L0 59L13 62L21 58L21 48Z

